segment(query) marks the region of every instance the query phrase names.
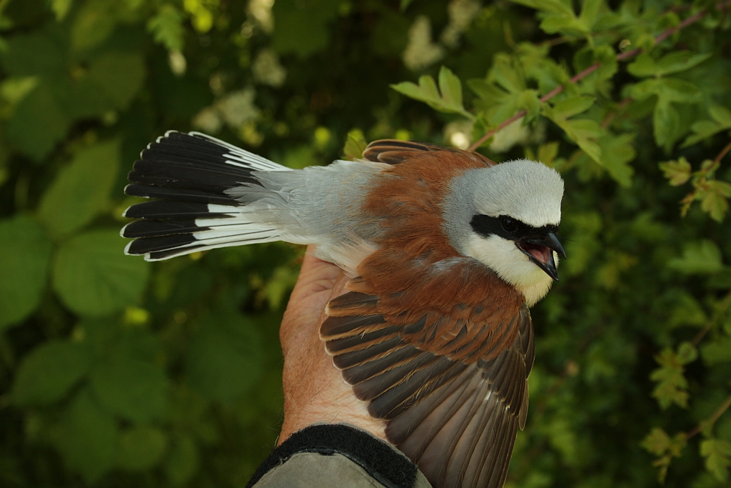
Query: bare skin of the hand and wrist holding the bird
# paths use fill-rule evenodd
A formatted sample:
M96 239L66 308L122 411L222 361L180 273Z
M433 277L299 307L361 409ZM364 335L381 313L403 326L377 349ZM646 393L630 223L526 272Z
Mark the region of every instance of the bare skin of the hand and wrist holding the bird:
M279 329L284 353L284 423L278 444L311 424L347 423L385 440L386 423L371 418L353 395L319 339L325 305L343 294L347 277L338 266L314 257L307 248L300 277Z

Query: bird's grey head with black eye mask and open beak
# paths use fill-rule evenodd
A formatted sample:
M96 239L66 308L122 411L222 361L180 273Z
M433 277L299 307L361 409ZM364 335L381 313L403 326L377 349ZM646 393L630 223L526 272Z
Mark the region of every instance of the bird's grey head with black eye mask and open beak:
M564 181L556 170L518 159L469 170L455 178L445 199L452 246L479 260L526 296L531 306L558 281L556 233Z

